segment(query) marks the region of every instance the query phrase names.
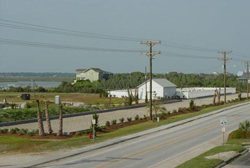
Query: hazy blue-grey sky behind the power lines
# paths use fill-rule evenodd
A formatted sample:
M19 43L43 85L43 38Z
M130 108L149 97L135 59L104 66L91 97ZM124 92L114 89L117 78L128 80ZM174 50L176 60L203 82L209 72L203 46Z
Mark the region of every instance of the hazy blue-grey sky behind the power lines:
M0 0L0 72L144 72L149 58L140 53L149 47L140 42L160 40L154 73L223 72L218 51L232 51L227 71L236 74L250 60L249 7L249 0Z

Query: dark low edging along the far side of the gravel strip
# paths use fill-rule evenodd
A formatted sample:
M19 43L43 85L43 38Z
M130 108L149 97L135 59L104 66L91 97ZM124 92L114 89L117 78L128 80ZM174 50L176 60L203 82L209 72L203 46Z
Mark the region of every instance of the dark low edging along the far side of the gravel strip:
M174 100L174 101L170 101L170 102L163 102L163 104L172 104L172 103L177 103L177 102L181 102L181 101L182 100ZM97 113L97 114L109 113L109 112L112 112L112 111L126 110L126 109L136 109L136 108L140 108L140 107L146 107L146 105L134 105L134 106L129 106L129 107L113 108L113 109L107 109L107 110L88 111L88 112L75 113L75 114L64 114L63 118L84 116L84 115L90 115L90 114L94 114L94 113ZM58 116L50 117L50 120L57 120L57 119L58 119ZM43 121L46 121L45 117L43 117ZM6 126L12 126L12 125L18 125L18 124L28 124L28 123L34 123L34 122L37 122L37 119L0 123L0 127L6 127Z

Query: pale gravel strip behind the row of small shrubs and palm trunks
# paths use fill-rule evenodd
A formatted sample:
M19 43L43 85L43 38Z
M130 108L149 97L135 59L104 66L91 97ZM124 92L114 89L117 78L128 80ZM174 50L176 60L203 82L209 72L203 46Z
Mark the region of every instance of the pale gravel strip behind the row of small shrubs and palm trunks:
M246 94L242 95L243 97L246 96ZM237 98L237 94L232 94L227 96L227 100L235 99ZM221 100L223 100L223 96L221 97ZM172 111L173 109L178 109L179 107L188 107L190 100L183 100L182 102L177 103L171 103L164 105L168 111ZM203 105L203 104L210 104L213 101L213 97L208 98L201 98L201 99L195 99L196 105ZM143 115L147 115L147 108L141 107L141 108L135 108L135 109L126 109L126 110L116 110L112 112L102 113L99 114L99 123L100 125L105 125L106 121L112 121L117 120L117 123L119 122L120 118L124 118L125 121L127 121L128 117L134 117L136 115L139 115L140 117L143 117ZM64 132L74 132L79 130L84 130L90 128L92 115L84 115L84 116L77 116L77 117L70 117L65 118L63 120L63 130ZM59 122L58 120L51 120L52 129L54 132L57 132ZM46 123L44 122L45 130L46 130ZM27 128L29 130L37 129L38 125L37 123L28 123L28 124L18 124L14 126L8 126L8 127L2 127L2 128Z

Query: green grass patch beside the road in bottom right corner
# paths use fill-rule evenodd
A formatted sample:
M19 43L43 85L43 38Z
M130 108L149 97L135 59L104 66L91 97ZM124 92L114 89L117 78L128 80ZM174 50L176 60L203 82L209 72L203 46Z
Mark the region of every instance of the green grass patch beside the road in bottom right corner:
M245 148L242 146L243 142L250 142L250 140L240 139L240 140L230 140L226 143L225 146L218 146L215 147L185 163L177 166L176 168L213 168L218 164L222 163L223 161L220 159L206 159L206 156L215 155L220 152L227 152L227 151L236 151L241 152Z

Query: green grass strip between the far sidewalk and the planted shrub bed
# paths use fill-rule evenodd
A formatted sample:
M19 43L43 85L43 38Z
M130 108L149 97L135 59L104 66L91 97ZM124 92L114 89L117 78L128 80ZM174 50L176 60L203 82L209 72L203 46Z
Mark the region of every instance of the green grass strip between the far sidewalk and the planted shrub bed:
M177 121L181 121L190 117L195 117L201 114L209 113L214 110L222 109L228 106L232 106L238 103L231 103L222 106L210 107L203 109L199 112L182 114L170 117L166 120L161 120L159 123L157 122L145 122L137 125L132 125L128 127L121 128L119 130L99 134L95 143L102 142L108 139L121 137L141 131L145 131L151 128L159 127L162 125L174 123ZM242 102L241 102L242 103ZM231 142L231 141L230 141ZM29 144L29 145L26 145ZM92 140L90 140L87 136L74 137L70 139L65 139L61 141L43 141L43 140L29 140L22 138L12 138L12 137L0 137L0 153L3 152L41 152L41 151L56 151L61 149L72 149L76 147L83 147L86 145L93 144ZM217 162L216 162L217 163Z

